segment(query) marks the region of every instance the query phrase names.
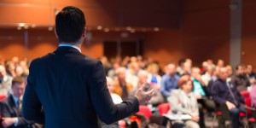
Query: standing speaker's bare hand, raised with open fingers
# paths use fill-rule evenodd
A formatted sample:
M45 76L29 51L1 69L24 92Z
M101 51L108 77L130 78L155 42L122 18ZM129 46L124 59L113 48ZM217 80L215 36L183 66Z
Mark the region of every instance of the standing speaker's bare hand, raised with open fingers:
M140 104L148 103L148 101L151 99L151 97L154 94L154 89L149 91L144 91L145 85L142 85L136 92L135 96L137 97L137 100Z

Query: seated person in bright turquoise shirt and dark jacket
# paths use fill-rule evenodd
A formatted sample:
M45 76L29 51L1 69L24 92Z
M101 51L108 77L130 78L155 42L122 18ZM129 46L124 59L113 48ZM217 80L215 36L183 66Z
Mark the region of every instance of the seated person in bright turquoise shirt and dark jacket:
M206 84L201 79L201 71L199 67L193 67L191 70L191 79L194 84L194 93L197 98L197 102L199 103L199 113L200 113L200 127L206 127L204 121L204 113L203 108L207 108L209 112L213 112L215 110L215 103L210 100L208 96L208 92L206 89Z

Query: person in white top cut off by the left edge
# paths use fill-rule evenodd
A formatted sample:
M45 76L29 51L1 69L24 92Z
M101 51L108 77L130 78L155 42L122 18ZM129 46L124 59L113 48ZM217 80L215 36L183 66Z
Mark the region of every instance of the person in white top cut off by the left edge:
M0 95L9 95L11 83L12 77L7 75L5 68L2 65L0 65Z

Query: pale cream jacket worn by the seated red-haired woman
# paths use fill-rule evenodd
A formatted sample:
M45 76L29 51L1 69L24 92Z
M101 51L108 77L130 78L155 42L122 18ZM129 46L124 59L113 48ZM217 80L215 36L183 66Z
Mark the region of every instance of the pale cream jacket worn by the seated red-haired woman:
M199 115L197 100L193 92L186 94L181 89L172 90L169 101L171 103L170 113L179 111L184 114L197 113Z

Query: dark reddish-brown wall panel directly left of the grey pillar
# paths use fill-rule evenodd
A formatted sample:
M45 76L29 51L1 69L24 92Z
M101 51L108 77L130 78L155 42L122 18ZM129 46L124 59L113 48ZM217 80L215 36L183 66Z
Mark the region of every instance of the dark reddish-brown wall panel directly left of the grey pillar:
M230 9L224 1L183 1L183 50L195 65L230 61Z

